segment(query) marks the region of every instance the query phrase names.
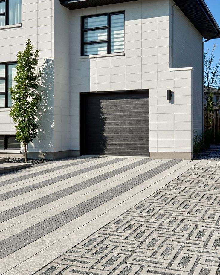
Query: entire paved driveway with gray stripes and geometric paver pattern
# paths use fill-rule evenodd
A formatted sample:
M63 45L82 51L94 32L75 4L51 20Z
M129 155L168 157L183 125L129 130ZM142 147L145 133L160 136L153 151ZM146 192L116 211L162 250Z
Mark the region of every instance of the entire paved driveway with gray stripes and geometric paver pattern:
M0 274L215 274L219 164L85 157L2 176Z

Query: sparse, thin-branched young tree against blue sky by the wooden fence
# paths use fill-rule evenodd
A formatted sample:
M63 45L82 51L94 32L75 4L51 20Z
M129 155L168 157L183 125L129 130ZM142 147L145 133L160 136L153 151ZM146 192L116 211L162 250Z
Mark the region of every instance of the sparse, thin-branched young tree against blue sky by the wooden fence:
M220 59L216 64L214 63L214 51L216 44L214 44L211 53L209 49L204 51L204 98L207 102L207 130L211 127L210 117L213 114L213 92L220 91Z

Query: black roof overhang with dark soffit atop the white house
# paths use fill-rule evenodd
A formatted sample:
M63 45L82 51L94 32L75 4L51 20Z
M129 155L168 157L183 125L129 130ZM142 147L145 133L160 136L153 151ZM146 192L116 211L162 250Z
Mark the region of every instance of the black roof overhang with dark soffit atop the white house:
M70 10L117 4L134 0L59 0ZM136 0L135 0L136 1ZM176 5L188 17L205 39L219 38L220 28L204 0L174 0Z

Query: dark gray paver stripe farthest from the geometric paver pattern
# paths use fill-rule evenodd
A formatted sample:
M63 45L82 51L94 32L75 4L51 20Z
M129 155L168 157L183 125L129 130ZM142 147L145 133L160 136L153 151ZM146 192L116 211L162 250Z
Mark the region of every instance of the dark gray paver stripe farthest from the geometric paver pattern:
M92 160L94 160L94 158L82 159L82 160L79 160L77 162L71 162L69 164L64 164L64 165L52 167L52 168L49 168L49 169L46 169L46 170L42 169L39 172L33 172L31 174L28 174L28 175L23 175L23 176L19 176L17 178L12 178L12 179L9 179L9 180L1 181L0 182L0 187L4 186L4 185L15 183L17 181L23 181L23 180L26 180L26 179L29 179L29 178L45 175L46 173L51 173L51 172L54 172L54 171L57 171L57 170L60 170L60 169L69 168L71 166L79 165L79 164L82 164L82 163L85 163L85 162L88 162L88 161L92 161Z

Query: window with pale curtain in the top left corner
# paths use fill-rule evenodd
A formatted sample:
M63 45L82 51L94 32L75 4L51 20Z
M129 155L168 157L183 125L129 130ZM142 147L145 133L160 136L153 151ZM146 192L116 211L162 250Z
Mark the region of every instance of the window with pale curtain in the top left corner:
M0 26L21 23L22 0L0 0Z

